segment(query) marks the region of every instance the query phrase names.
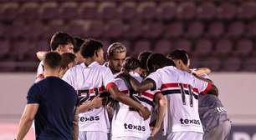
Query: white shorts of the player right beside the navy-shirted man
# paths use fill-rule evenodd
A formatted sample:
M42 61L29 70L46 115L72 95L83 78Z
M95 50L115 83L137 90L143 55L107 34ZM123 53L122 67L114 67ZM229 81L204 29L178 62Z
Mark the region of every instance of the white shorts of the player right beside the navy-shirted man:
M108 133L103 132L82 132L79 131L78 140L108 140Z

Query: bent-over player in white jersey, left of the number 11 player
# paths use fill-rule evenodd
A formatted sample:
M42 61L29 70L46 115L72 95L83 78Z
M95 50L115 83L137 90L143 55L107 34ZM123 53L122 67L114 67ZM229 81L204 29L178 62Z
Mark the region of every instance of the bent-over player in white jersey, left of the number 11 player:
M132 77L141 82L141 62L135 57L126 57L123 65L123 70L130 73ZM156 100L159 109L159 115L156 120L156 126L151 133L150 121L146 121L139 115L135 108L129 107L122 102L118 102L118 107L115 109L112 120L112 140L146 140L150 136L154 136L161 128L161 122L166 112L166 99L160 92L146 91L135 92L129 82L117 77L115 84L119 87L126 96L133 98L136 102L141 102L144 106L150 108L154 107L153 101Z

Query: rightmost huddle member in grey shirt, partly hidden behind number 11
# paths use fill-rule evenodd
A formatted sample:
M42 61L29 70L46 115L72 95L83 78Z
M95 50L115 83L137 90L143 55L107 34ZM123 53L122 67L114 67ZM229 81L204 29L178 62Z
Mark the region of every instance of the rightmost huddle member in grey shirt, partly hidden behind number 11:
M187 71L189 69L190 58L184 50L171 52L168 57L177 63L180 69ZM211 72L207 67L192 69L199 77L209 80L208 74ZM204 129L204 140L226 140L230 133L231 122L228 119L228 113L223 107L221 100L211 94L199 94L199 116Z

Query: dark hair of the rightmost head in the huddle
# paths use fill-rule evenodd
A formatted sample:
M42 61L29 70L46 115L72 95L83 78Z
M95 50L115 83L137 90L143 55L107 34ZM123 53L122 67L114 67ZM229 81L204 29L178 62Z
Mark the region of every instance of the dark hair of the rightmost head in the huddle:
M167 55L170 59L181 59L184 64L187 65L188 53L185 50L175 50Z

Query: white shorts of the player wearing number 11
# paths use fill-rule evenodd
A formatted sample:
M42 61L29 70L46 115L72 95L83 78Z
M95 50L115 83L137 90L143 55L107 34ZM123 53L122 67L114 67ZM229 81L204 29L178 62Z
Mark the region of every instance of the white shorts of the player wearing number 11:
M167 140L181 140L181 139L202 140L202 133L194 133L194 132L169 133L167 134L166 139Z

